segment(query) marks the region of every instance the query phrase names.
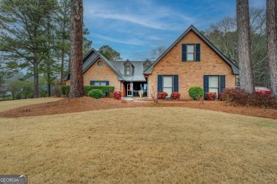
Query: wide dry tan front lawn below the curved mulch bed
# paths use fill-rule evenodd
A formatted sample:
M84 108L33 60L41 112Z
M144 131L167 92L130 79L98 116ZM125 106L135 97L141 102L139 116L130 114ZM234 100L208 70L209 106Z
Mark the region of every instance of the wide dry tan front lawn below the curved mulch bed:
M0 173L30 183L276 183L277 120L190 108L0 118Z

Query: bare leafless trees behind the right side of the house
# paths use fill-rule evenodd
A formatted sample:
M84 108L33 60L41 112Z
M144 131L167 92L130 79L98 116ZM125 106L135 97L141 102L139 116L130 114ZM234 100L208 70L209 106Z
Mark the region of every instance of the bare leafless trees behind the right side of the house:
M266 10L250 8L251 59L255 86L270 87L266 45ZM239 66L237 18L225 17L211 24L202 34L224 55Z

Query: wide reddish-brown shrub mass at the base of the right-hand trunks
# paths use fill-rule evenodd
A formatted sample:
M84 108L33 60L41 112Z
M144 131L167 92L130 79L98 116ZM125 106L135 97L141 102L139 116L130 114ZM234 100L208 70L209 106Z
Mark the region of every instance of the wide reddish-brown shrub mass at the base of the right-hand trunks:
M264 93L247 93L244 90L226 88L220 99L233 105L277 109L277 99Z

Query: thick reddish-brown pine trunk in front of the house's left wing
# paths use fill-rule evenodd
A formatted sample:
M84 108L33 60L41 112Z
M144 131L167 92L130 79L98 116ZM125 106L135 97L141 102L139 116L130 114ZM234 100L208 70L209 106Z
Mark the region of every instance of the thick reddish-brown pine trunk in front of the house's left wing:
M84 96L82 74L82 0L71 0L70 16L70 93L68 98Z

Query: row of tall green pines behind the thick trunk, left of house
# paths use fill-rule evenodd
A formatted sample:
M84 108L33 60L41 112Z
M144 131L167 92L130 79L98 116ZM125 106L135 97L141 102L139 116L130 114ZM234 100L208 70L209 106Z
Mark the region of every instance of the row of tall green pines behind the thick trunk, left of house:
M48 83L70 69L70 0L0 0L0 79L21 69L21 80L33 77L33 97L38 98L38 76ZM89 32L83 28L84 35ZM83 53L92 41L83 37ZM4 69L4 70L3 70Z

